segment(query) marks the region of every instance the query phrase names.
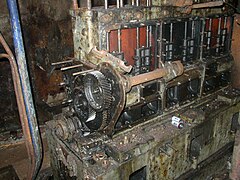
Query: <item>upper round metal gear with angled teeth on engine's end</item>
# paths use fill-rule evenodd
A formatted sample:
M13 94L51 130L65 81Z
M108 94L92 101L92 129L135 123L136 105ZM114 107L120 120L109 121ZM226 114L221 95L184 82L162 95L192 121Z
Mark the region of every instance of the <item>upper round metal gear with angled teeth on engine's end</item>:
M89 105L96 111L103 111L110 107L112 95L111 84L100 71L93 71L85 75L84 92Z

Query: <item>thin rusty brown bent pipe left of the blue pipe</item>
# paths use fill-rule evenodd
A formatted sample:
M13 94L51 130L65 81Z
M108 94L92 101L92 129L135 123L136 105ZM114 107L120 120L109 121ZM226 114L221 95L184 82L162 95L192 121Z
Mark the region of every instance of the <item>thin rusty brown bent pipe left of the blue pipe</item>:
M8 47L6 41L4 40L1 33L0 33L0 42L3 45L5 51L8 53L8 54L0 54L0 59L2 59L2 58L8 59L10 66L11 66L11 72L12 72L13 85L14 85L14 90L15 90L15 95L16 95L16 100L17 100L18 112L19 112L19 117L20 117L20 121L21 121L21 125L22 125L23 135L25 138L27 153L28 153L28 157L29 157L29 161L30 161L29 166L28 166L27 177L28 177L28 179L31 179L32 172L33 172L33 164L35 161L34 148L33 148L33 144L32 144L30 128L28 125L28 118L27 118L27 114L26 114L26 108L24 105L24 98L23 98L23 94L22 94L22 88L21 88L21 82L20 82L20 77L19 77L19 73L18 73L17 63L13 56L12 51Z

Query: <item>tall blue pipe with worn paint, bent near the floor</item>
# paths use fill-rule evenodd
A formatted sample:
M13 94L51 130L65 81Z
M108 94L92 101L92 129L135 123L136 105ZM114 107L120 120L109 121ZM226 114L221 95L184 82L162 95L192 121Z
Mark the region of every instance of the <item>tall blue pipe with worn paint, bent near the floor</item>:
M39 127L37 123L32 91L30 86L30 80L28 76L27 61L25 56L25 50L23 45L22 31L19 19L18 5L16 0L7 0L11 28L13 34L13 43L15 48L15 56L17 59L18 71L20 75L21 87L23 91L24 104L26 107L26 113L28 118L28 125L30 128L32 145L34 148L35 161L33 166L35 170L32 174L32 179L35 179L37 173L41 167L42 162L42 142L39 132Z

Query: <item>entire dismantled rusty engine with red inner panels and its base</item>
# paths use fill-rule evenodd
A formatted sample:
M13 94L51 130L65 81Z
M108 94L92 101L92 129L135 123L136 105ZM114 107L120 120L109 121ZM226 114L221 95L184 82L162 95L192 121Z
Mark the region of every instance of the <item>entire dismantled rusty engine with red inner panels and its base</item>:
M68 99L48 123L56 178L184 178L231 149L231 8L83 1L70 14L75 57L57 64Z

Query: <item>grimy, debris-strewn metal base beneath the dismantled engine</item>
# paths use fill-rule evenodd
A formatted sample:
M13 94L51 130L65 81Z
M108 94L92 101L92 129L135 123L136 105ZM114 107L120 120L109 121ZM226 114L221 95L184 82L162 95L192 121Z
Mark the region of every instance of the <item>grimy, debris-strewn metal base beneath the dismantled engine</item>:
M63 143L51 131L54 122L49 122L51 152L58 152L53 156L59 159L52 159L52 163L64 164L70 176L76 176L78 179L128 179L133 172L141 168L146 168L147 179L176 179L189 170L199 168L198 164L234 141L232 122L229 120L239 111L240 103L237 101L229 104L227 99L231 95L233 99L239 96L231 94L228 90L221 91L193 104L191 109L186 108L168 116L154 118L148 123L116 134L112 139L93 135L91 138L96 139L91 141L86 137ZM219 96L227 99L223 101ZM173 114L178 114L184 119L183 129L171 125L170 119ZM199 141L195 142L196 138ZM98 148L93 148L94 144L98 144ZM85 148L87 154L82 152ZM99 153L102 154L101 157L95 158ZM67 161L68 155L72 156L76 163L75 170L68 168L73 166ZM77 163L80 160L83 162ZM82 163L87 164L88 168L84 168ZM54 167L59 165L55 164ZM60 171L55 173L58 176Z

